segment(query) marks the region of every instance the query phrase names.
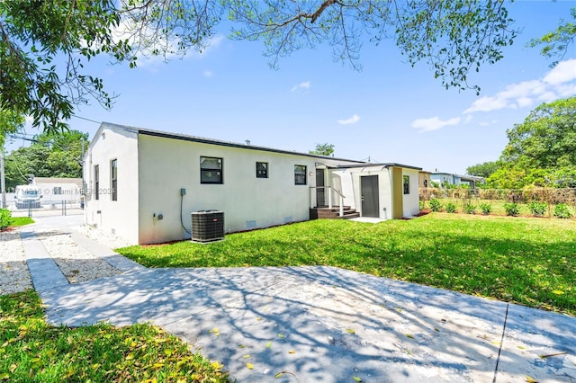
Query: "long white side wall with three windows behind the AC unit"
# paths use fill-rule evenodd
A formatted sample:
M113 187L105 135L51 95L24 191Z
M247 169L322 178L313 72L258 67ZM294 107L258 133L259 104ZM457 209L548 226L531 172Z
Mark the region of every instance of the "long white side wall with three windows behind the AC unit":
M139 134L138 150L139 244L189 238L182 226L190 231L191 213L198 210L223 211L228 232L310 217L312 157L146 134ZM222 184L201 183L201 156L222 158ZM268 178L256 177L257 162L268 163ZM307 166L307 184L294 184L294 165Z

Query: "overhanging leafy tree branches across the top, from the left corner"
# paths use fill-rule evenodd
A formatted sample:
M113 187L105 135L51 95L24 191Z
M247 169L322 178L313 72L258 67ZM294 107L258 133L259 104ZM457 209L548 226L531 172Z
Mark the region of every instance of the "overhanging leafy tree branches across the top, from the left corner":
M425 61L443 85L469 85L470 71L502 58L517 31L496 0L3 0L0 108L30 114L45 131L66 129L77 103L112 106L86 61L107 55L136 67L139 55L184 55L210 43L223 16L230 37L263 40L271 65L298 49L329 44L360 68L362 41L396 40L412 66Z

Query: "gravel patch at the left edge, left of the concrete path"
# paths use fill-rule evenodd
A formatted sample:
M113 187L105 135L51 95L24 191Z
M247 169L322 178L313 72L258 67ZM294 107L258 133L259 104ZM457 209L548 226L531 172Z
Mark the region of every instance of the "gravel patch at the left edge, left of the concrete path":
M0 232L0 295L32 288L20 233Z

